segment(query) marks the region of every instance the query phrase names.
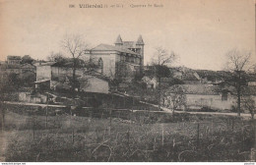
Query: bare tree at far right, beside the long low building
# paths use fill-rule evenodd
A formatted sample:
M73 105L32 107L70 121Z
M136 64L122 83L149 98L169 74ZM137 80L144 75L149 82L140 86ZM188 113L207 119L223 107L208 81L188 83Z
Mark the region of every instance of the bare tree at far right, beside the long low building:
M241 89L246 84L245 74L250 69L251 52L239 51L232 49L226 53L227 62L225 64L226 70L231 73L231 79L226 83L234 86L237 97L237 115L240 116L241 111Z

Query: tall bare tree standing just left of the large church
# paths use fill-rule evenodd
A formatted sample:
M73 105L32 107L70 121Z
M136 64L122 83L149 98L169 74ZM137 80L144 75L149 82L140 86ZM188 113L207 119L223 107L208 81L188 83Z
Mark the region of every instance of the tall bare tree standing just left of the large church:
M81 67L80 58L85 54L88 44L83 40L82 35L66 35L61 42L61 46L69 57L72 59L72 90L75 91L79 86L76 79L76 70Z

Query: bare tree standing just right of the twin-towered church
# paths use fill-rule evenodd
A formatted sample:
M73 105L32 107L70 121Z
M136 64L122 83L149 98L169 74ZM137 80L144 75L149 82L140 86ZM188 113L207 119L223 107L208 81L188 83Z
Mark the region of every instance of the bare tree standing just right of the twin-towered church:
M166 49L161 47L156 48L156 52L152 59L152 65L154 66L155 76L159 80L159 108L160 108L160 97L161 97L161 82L160 79L162 77L169 77L170 72L167 66L171 65L177 58L177 55L172 51L168 52ZM166 71L168 70L168 72Z

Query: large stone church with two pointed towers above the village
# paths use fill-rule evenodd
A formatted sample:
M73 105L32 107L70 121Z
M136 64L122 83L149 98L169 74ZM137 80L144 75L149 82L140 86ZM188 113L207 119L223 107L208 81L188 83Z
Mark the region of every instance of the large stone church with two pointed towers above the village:
M99 44L89 50L91 60L98 66L97 72L110 79L130 82L142 74L144 66L144 41L123 41L118 35L114 45Z

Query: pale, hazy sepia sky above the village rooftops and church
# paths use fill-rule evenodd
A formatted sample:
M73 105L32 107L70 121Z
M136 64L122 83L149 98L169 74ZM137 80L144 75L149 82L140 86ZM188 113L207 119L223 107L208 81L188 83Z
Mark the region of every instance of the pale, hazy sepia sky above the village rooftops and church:
M117 4L122 8L111 7ZM192 69L222 70L233 48L251 51L256 62L254 0L0 0L0 60L46 59L62 51L65 34L81 34L91 47L141 34L145 65L160 46L178 54L174 66Z

